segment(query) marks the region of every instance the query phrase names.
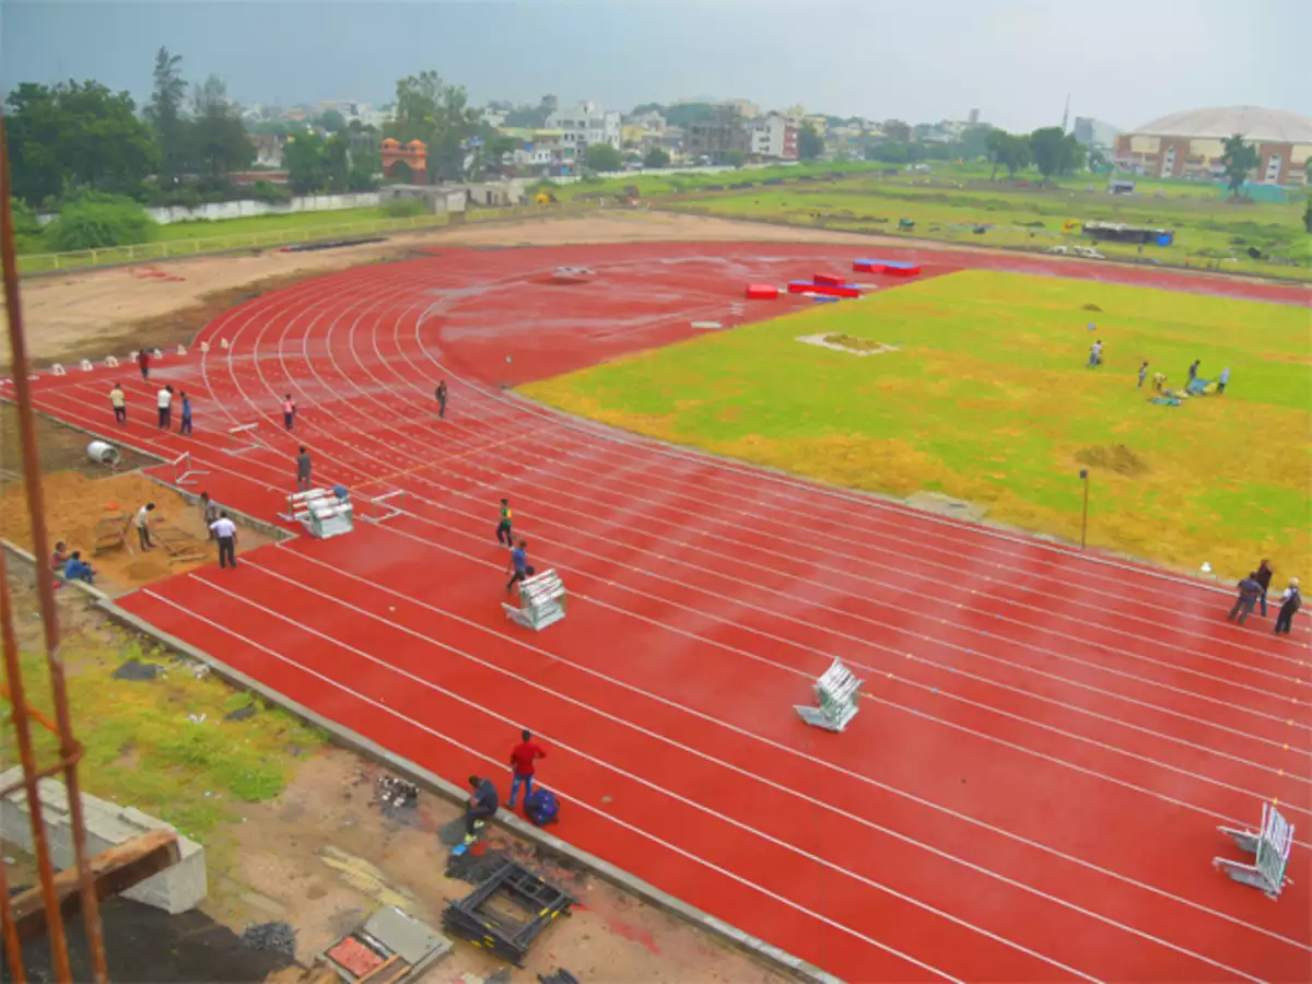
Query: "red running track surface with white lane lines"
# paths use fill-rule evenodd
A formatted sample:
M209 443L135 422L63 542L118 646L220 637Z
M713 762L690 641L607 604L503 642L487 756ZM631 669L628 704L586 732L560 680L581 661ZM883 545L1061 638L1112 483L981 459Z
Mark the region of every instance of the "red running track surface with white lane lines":
M121 604L454 782L504 786L531 728L565 800L562 837L841 977L1312 979L1303 626L1237 628L1203 584L617 436L497 388L731 321L748 281L851 258L449 251L248 302L206 328L207 356L165 357L150 387L127 367L35 386L71 422L190 450L209 491L255 516L283 505L297 443L316 484L404 489L407 512L383 523ZM991 264L1308 303L1298 287L916 258L926 276ZM600 279L541 282L563 264ZM130 391L126 432L110 377ZM194 438L152 426L156 377L192 394ZM451 383L442 422L437 378ZM264 447L222 450L255 421ZM499 607L501 496L533 562L571 589L569 618L541 635ZM867 681L844 735L791 710L834 656ZM1271 798L1299 828L1275 903L1208 863L1235 855L1216 825L1256 824Z

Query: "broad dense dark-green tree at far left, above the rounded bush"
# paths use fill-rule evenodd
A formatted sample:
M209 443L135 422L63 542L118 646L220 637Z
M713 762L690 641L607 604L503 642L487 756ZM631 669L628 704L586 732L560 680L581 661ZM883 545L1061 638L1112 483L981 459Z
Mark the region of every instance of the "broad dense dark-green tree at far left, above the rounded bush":
M5 100L14 197L33 207L70 189L136 194L156 164L126 92L100 83L22 83Z

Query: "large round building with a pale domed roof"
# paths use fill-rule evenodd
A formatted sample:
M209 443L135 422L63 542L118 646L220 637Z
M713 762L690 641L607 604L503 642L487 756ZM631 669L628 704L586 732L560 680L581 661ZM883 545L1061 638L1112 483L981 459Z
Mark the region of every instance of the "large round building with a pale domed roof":
M1254 184L1307 184L1312 117L1258 106L1173 113L1117 136L1115 164L1152 177L1220 177L1224 140L1233 134L1257 148Z

